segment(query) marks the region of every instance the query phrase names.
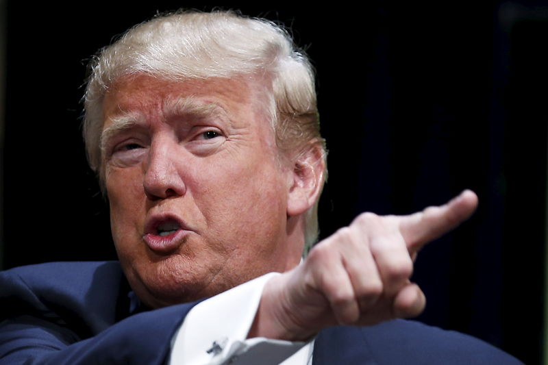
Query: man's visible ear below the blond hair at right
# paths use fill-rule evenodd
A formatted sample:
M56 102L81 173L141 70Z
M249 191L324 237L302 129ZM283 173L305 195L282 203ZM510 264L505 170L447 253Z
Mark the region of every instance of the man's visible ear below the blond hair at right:
M306 212L319 199L325 173L324 152L321 144L310 144L292 164L287 202L288 216Z

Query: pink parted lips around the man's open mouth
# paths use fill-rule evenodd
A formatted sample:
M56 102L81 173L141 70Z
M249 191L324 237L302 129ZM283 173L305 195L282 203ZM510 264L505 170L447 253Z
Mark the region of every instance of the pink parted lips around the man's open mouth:
M158 227L167 221L174 221L179 225L179 229L167 236L158 234ZM171 253L186 241L187 236L192 232L191 229L177 216L173 214L155 214L151 216L145 225L145 234L142 239L149 249L156 253Z

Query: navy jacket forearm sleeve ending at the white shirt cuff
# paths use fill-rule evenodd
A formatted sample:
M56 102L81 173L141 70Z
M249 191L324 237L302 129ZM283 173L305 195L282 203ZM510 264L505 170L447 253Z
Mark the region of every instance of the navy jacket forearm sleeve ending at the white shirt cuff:
M0 326L0 364L163 364L189 309L177 305L136 314L84 340L41 318L10 318Z

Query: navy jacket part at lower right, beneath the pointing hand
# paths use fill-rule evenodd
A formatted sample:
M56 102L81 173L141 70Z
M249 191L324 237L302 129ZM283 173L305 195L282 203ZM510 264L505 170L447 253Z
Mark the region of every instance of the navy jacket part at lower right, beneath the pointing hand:
M316 344L319 355L328 359L325 364L336 357L345 358L345 364L522 364L487 342L413 320L332 327L316 340L314 356ZM329 350L332 346L339 350Z

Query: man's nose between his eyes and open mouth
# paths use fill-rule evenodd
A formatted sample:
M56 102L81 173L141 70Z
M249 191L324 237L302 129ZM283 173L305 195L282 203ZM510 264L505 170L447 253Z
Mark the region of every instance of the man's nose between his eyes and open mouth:
M177 144L163 138L151 144L143 187L147 198L155 201L180 197L186 192L186 186L179 174Z

